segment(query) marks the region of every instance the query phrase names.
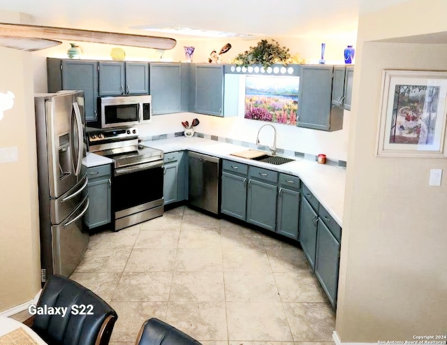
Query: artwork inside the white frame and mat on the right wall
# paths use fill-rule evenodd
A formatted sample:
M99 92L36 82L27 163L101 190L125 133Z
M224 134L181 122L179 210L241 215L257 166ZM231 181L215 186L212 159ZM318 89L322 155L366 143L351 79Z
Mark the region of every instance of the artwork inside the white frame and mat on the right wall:
M432 145L439 86L396 85L390 143Z

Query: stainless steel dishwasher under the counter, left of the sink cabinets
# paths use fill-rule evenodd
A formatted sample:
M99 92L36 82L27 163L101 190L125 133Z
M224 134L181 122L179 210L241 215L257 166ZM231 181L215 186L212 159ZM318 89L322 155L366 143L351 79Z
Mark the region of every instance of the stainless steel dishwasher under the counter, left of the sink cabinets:
M220 214L221 159L189 152L188 162L189 205Z

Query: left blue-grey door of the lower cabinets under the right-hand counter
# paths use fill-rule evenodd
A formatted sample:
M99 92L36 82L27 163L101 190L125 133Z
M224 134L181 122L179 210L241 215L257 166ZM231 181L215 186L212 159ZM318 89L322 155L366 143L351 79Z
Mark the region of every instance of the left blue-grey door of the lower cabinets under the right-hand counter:
M305 252L312 269L315 267L317 223L318 214L306 198L303 197L300 212L300 242L302 250Z

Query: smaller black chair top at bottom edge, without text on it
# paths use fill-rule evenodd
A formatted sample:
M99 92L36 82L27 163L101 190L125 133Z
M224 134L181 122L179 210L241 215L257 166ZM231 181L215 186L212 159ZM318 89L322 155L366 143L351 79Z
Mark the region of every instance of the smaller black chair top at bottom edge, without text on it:
M202 345L181 330L158 318L149 318L142 324L135 345Z

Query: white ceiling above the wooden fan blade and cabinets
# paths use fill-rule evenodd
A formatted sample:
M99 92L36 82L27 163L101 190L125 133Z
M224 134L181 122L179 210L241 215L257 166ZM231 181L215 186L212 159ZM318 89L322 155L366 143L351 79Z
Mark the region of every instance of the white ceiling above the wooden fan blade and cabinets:
M170 24L266 37L336 36L357 31L358 15L409 0L0 0L0 10L31 15L28 23L127 34Z

